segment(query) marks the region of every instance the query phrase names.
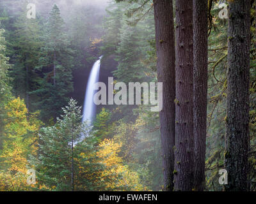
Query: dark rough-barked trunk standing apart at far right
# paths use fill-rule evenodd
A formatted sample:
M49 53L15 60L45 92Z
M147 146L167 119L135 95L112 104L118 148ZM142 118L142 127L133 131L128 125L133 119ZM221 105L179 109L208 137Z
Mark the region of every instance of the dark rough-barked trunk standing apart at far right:
M229 1L226 191L247 191L249 148L250 0Z

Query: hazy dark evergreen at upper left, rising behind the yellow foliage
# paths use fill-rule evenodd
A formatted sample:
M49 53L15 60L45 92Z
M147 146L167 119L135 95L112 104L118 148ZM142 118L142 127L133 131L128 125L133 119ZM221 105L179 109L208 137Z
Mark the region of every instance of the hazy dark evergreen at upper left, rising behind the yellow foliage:
M31 101L29 92L35 91L38 87L38 73L35 67L38 65L39 51L42 46L40 41L40 25L38 18L29 19L26 17L27 11L24 10L13 24L14 36L11 41L13 47L12 61L14 62L10 77L13 78L13 93L26 99L26 106L30 109ZM36 108L32 108L35 110Z

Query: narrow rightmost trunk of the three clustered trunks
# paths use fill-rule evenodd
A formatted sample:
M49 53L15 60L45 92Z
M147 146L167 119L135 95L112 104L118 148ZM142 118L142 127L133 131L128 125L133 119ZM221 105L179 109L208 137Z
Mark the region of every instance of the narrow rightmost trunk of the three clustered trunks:
M205 146L208 80L207 0L193 1L195 191L205 187Z

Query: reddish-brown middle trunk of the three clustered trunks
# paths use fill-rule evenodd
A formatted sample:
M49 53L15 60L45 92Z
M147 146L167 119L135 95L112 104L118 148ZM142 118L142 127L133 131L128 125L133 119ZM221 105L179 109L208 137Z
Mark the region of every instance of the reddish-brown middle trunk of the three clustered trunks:
M175 191L193 189L193 0L176 0Z

